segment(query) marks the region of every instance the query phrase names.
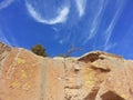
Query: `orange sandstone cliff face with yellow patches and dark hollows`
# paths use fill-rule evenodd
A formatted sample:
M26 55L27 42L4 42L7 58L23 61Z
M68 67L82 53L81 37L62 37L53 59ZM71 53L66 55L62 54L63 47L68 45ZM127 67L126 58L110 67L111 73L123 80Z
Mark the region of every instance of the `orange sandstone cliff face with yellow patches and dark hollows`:
M133 61L102 51L42 58L0 43L0 100L133 100Z

